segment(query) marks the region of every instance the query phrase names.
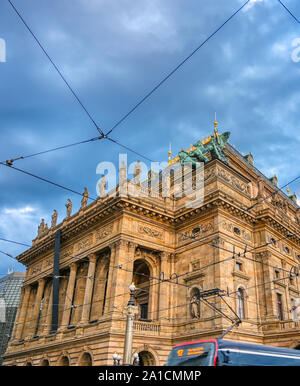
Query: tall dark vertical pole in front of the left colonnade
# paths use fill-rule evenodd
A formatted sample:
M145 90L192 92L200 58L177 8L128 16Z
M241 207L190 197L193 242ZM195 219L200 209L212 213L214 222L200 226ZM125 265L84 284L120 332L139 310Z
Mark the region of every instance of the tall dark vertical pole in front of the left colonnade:
M50 333L55 333L58 328L58 303L59 303L59 256L60 256L61 230L55 232L54 264L53 264L53 289L52 289L52 322Z

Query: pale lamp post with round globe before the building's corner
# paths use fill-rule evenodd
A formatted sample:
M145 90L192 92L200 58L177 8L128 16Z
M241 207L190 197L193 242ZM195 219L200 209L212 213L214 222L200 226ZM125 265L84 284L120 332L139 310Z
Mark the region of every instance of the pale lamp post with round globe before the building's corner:
M132 360L132 338L133 338L133 319L134 315L138 312L138 308L135 305L134 293L136 287L134 283L129 286L130 298L126 307L126 331L123 353L123 366L130 366ZM135 360L136 361L136 360Z

